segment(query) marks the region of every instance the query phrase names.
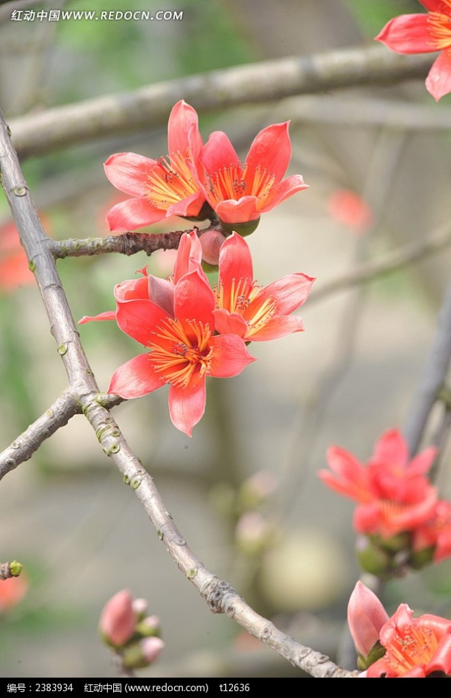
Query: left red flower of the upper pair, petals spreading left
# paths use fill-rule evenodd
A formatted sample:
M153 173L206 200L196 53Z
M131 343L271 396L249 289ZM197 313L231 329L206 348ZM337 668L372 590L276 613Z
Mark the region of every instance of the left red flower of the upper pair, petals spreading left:
M111 184L133 197L108 211L110 230L136 230L172 215L198 216L205 196L191 167L201 149L198 115L182 100L170 113L167 158L151 160L135 153L110 156L105 162L106 176Z

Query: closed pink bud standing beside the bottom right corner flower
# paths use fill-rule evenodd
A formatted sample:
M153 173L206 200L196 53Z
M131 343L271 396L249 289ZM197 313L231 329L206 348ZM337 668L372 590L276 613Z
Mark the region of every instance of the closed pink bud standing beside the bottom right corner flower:
M367 657L387 622L385 608L367 586L357 581L348 603L348 625L357 652Z

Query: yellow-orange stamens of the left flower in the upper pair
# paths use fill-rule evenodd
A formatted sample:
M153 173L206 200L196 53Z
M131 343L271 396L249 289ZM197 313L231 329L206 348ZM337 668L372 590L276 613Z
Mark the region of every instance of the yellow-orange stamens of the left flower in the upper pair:
M186 156L180 151L167 158L160 158L158 165L147 176L145 186L146 198L162 211L167 211L172 204L186 199L198 191L198 185L188 168L189 152Z

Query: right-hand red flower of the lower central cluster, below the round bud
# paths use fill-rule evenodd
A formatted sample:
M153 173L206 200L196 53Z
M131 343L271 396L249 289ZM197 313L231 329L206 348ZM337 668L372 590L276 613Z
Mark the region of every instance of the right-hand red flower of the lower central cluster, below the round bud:
M215 328L245 341L277 339L304 329L298 315L290 315L306 301L315 281L305 274L289 274L266 288L253 280L252 258L246 241L235 232L219 252L219 280L215 285Z

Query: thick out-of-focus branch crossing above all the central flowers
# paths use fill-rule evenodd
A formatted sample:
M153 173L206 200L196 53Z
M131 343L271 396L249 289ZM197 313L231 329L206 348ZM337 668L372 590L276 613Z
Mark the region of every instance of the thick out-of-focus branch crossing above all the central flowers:
M12 119L22 158L120 133L162 126L184 98L202 112L283 97L423 79L432 57L399 56L383 46L353 48L212 70Z

